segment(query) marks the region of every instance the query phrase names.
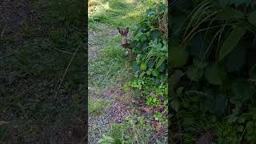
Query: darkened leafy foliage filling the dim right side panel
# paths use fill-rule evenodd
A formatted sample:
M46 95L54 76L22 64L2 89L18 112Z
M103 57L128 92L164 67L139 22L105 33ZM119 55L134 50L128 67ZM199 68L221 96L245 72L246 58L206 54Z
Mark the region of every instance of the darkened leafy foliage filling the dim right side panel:
M256 2L181 2L170 4L171 122L189 137L173 141L255 143Z

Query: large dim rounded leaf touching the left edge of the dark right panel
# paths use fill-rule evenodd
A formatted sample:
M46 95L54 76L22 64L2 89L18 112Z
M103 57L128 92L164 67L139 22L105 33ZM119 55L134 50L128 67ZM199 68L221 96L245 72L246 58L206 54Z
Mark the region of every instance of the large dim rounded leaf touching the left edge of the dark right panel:
M172 47L170 49L170 66L178 68L186 65L189 58L189 52L184 48Z

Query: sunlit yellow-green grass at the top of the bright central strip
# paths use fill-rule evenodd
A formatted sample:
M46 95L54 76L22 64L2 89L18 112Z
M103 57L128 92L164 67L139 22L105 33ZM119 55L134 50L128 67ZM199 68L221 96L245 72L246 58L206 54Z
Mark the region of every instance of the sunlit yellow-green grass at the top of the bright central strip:
M113 26L133 27L145 10L146 5L143 1L89 1L90 21L108 23Z

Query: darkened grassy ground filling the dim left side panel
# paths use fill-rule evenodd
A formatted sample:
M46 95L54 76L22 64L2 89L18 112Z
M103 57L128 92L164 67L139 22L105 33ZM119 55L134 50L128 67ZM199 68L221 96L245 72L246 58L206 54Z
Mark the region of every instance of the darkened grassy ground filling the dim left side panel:
M41 19L23 21L16 38L2 40L9 50L1 54L0 119L9 123L0 127L0 142L82 142L85 137L86 33L79 2L35 1Z

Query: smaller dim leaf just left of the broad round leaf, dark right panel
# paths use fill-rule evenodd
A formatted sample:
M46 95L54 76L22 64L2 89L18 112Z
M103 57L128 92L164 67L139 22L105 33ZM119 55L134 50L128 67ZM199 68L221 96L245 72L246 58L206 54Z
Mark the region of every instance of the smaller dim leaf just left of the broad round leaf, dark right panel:
M202 78L203 70L199 70L195 66L189 66L186 70L186 76L192 81L198 82Z

